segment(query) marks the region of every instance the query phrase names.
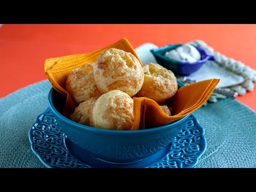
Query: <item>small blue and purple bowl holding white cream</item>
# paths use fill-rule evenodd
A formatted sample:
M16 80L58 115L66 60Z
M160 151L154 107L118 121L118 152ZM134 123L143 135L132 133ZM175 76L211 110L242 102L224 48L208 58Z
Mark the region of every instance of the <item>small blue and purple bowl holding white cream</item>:
M196 49L201 54L201 59L197 62L181 62L176 61L170 58L167 58L165 56L165 53L167 51L171 51L173 49L176 49L177 47L181 46L183 44L171 44L166 45L164 47L160 47L157 49L150 50L150 52L154 55L156 61L158 64L162 65L166 69L171 70L175 75L181 75L181 76L188 76L191 73L194 73L199 68L202 67L203 63L205 63L207 60L215 60L215 58L212 55L206 54L206 52L201 49L200 47L196 47Z

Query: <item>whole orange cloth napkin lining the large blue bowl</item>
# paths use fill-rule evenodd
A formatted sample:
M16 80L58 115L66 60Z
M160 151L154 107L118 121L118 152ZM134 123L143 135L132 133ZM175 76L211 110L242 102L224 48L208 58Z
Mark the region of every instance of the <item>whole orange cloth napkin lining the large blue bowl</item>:
M95 62L102 51L110 48L130 52L140 61L132 45L126 38L122 38L118 42L98 51L50 58L45 61L44 71L53 88L67 97L63 115L69 117L77 107L65 87L66 79L70 71L81 67L85 63ZM131 130L161 126L185 117L204 104L219 81L220 79L209 79L181 87L171 99L166 101L166 105L173 109L172 116L167 116L163 113L162 109L154 100L145 97L133 98L134 124Z

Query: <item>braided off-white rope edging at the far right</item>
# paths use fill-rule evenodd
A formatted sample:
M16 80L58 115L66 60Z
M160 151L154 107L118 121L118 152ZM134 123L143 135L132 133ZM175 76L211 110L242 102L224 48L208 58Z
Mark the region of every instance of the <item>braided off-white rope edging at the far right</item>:
M194 46L199 46L207 54L214 55L215 62L220 66L223 67L237 75L243 76L246 80L241 85L235 85L228 87L231 90L238 92L239 95L243 95L246 91L253 91L254 83L256 82L256 71L248 66L245 66L244 63L241 61L236 61L233 58L227 58L225 55L222 55L219 52L214 52L213 48L207 45L205 42L201 40L196 40L193 42L189 42Z

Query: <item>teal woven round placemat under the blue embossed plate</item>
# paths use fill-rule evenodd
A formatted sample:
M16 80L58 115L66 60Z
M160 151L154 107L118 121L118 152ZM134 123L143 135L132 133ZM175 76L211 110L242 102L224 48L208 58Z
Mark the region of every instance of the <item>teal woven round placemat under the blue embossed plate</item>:
M28 130L48 107L48 81L0 100L0 167L43 167L32 153ZM205 129L207 149L196 167L256 167L256 114L222 99L194 113Z

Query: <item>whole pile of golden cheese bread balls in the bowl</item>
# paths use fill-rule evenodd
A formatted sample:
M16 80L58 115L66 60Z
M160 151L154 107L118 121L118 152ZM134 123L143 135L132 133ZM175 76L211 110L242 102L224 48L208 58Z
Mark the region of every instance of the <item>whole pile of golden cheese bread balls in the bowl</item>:
M95 63L73 69L66 90L77 103L70 119L87 126L110 130L130 130L134 122L133 97L156 101L166 115L164 105L178 90L172 71L157 63L141 66L131 53L119 49L101 52Z

